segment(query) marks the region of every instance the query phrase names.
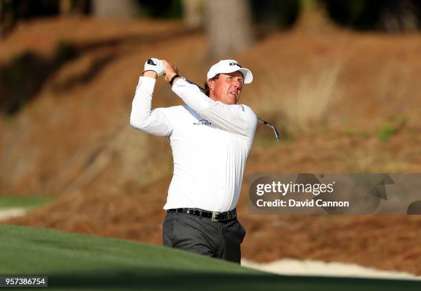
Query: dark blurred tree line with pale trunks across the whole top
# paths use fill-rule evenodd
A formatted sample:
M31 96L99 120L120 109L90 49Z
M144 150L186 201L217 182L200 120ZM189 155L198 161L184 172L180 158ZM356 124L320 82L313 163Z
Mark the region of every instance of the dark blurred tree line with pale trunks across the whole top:
M190 28L206 28L210 55L218 57L248 47L258 32L297 26L312 32L323 22L414 32L421 27L420 11L421 0L0 0L0 39L21 19L34 17L179 18Z

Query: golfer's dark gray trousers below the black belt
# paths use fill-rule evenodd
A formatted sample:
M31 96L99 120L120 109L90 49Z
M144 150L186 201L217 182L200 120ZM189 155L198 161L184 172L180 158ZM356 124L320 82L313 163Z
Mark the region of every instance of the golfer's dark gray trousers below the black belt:
M237 218L213 222L185 213L166 213L162 224L164 246L240 263L246 230Z

